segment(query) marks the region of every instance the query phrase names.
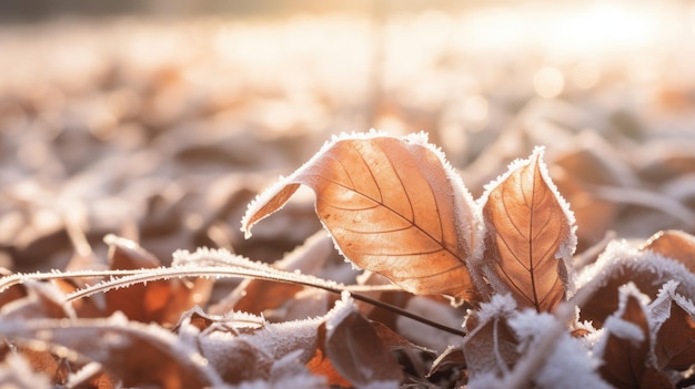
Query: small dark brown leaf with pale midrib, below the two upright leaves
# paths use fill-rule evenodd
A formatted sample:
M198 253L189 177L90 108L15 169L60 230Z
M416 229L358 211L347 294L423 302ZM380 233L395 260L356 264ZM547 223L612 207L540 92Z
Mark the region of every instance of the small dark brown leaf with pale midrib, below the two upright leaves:
M469 311L465 328L469 335L462 349L471 380L479 377L503 377L520 357L516 337L507 320L516 310L511 295L494 295L481 304L479 311Z

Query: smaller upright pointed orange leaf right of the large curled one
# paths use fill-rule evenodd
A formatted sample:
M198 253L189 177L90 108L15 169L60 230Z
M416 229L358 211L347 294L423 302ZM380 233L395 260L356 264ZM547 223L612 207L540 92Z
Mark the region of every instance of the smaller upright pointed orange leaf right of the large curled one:
M483 265L496 291L508 289L520 306L550 311L565 296L566 260L576 237L573 216L554 191L542 155L536 149L488 190Z

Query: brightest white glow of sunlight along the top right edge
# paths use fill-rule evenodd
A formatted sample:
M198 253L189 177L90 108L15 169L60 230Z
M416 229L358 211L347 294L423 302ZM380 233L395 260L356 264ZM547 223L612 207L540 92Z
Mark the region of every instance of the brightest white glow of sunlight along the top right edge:
M667 6L627 1L531 3L469 12L456 24L463 49L503 53L538 49L555 59L615 57L677 33Z

